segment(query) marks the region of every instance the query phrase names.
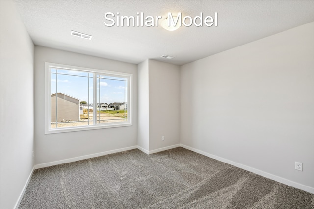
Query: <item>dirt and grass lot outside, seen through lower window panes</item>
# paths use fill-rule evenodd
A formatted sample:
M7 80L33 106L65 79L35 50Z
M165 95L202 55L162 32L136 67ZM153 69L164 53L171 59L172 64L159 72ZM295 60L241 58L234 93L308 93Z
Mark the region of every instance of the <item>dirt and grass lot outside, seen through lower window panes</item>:
M88 114L81 114L80 121L67 121L58 122L58 128L60 127L76 127L76 126L86 126L93 124L93 114L89 113L89 124L88 124ZM101 121L99 121L101 120ZM111 112L101 112L97 113L97 124L99 123L112 123L112 122L124 122L124 111L111 111ZM56 128L56 124L52 123L51 128Z

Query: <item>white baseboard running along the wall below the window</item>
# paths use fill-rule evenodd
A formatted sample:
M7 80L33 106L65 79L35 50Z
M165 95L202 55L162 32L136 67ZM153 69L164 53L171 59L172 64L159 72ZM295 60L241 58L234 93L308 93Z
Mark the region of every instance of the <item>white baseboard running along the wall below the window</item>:
M59 165L59 164L63 164L63 163L71 163L71 162L75 162L75 161L85 160L85 159L89 159L89 158L95 158L95 157L113 154L113 153L117 153L117 152L123 152L123 151L131 150L131 149L137 149L137 147L138 146L125 147L125 148L121 148L121 149L109 150L109 151L105 151L105 152L99 152L99 153L79 156L79 157L75 157L75 158L68 158L68 159L64 159L64 160L60 160L60 161L54 161L54 162L50 162L50 163L42 163L42 164L35 165L35 169L50 167L53 165Z

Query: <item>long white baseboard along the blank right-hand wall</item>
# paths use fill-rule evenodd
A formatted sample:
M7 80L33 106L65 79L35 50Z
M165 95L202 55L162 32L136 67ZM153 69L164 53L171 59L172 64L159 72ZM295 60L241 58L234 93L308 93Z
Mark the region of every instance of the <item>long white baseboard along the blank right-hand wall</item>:
M310 186L305 186L305 185L299 184L297 182L293 182L293 181L290 181L288 179L285 179L285 178L282 178L282 177L279 177L279 176L276 176L276 175L264 172L262 170L259 170L259 169L256 169L256 168L252 168L250 166L243 165L241 163L236 163L234 161L230 161L228 159L221 158L221 157L216 156L216 155L209 154L207 152L204 152L204 151L201 151L201 150L198 150L198 149L186 146L184 144L180 144L180 146L185 148L185 149L191 150L193 152L199 153L201 155L207 156L209 158L213 158L213 159L216 159L218 161L234 165L235 167L242 168L244 170L250 171L252 173L258 174L258 175L263 176L263 177L266 177L268 179L272 179L272 180L274 180L276 182L280 182L280 183L283 183L285 185L292 186L292 187L295 187L297 189L301 189L301 190L304 190L304 191L307 191L309 193L314 194L314 188L312 188Z

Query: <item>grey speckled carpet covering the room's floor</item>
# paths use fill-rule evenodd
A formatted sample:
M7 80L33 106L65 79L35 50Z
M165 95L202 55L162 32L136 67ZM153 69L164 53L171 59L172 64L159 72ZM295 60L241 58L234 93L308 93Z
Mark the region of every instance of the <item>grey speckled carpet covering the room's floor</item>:
M137 149L37 169L19 209L314 209L314 195L192 151Z

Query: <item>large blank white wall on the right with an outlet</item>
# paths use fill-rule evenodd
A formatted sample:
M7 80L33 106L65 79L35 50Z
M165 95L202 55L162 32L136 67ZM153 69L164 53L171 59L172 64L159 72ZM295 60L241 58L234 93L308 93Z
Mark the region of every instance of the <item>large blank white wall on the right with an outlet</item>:
M181 143L314 192L313 39L308 23L182 66Z

